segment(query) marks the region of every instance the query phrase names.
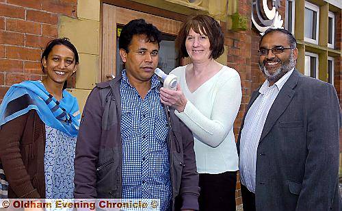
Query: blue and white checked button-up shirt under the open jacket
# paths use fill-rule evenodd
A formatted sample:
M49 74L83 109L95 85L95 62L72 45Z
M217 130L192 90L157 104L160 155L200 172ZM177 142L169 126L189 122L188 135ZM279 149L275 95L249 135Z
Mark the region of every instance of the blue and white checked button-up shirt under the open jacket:
M161 210L168 210L171 199L168 122L160 102L160 82L151 78L144 100L129 84L122 71L122 198L160 199Z

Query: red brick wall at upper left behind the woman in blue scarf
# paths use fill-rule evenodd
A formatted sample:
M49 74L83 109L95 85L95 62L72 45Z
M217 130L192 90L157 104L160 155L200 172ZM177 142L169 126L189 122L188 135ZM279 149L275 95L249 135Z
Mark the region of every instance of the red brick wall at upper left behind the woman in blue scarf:
M42 79L42 49L58 17L77 17L77 0L0 0L0 103L12 84Z

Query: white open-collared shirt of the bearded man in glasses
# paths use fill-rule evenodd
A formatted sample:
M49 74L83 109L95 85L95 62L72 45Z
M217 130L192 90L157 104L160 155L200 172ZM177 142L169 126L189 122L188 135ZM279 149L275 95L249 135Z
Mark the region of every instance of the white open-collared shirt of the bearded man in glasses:
M261 132L263 132L269 109L292 72L293 69L283 75L272 86L269 86L269 82L266 80L259 89L260 95L255 99L246 114L240 138L239 169L242 184L252 193L255 193L257 149Z

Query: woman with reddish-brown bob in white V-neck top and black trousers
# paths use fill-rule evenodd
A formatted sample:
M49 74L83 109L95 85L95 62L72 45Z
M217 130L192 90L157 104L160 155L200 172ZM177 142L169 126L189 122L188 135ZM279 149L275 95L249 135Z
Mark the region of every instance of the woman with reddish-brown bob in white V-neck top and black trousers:
M241 103L239 73L215 62L224 34L210 16L190 16L176 39L181 57L192 64L172 71L177 90L161 88L161 102L192 130L200 173L200 210L235 210L238 157L233 123Z

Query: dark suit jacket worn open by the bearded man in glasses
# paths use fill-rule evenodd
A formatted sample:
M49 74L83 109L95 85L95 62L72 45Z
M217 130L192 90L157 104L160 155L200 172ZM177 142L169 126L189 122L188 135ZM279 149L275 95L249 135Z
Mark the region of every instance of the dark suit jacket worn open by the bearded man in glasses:
M259 90L253 92L248 109L258 96ZM294 70L269 110L259 141L257 210L342 208L338 186L340 123L334 87ZM244 120L238 153L243 127Z

